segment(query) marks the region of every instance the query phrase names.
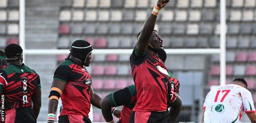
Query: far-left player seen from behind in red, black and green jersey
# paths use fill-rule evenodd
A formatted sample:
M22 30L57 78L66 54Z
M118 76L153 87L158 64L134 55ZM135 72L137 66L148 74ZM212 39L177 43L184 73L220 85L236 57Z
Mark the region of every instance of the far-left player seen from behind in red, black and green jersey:
M0 70L0 94L4 95L5 123L37 123L41 108L39 75L22 64L23 50L18 44L5 48L8 66Z

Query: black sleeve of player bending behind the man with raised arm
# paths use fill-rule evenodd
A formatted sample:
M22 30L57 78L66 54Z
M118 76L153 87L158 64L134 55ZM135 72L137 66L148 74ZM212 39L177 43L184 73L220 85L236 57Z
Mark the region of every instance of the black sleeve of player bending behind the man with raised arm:
M112 107L127 105L132 102L132 95L126 87L108 95Z

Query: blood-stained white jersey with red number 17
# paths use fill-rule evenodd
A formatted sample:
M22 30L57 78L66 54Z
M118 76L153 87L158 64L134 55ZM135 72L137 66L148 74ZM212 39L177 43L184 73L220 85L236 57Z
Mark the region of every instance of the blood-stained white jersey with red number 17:
M210 91L203 104L204 123L240 123L242 112L256 112L251 92L236 84Z

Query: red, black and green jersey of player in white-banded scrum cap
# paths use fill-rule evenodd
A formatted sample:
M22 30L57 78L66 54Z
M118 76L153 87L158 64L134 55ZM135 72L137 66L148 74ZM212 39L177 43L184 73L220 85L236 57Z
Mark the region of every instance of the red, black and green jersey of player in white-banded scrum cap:
M66 82L61 99L62 115L82 115L88 117L90 111L91 75L85 68L75 64L72 59L66 59L54 73L54 80Z

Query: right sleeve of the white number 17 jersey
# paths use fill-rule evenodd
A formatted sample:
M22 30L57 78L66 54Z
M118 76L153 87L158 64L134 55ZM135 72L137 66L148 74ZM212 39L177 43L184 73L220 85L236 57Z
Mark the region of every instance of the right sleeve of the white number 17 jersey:
M254 107L254 101L251 97L251 92L247 89L243 89L241 93L242 96L242 104L245 110L245 113L256 112Z

